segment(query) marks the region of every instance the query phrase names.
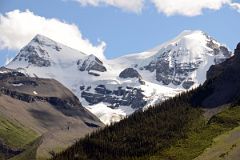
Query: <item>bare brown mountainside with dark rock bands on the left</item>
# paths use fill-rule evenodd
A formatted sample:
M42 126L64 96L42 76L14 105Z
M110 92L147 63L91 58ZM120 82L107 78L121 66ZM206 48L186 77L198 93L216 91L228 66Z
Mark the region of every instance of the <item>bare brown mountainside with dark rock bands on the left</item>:
M32 138L29 136L31 141L17 145L17 149L22 152L28 143L41 137L34 157L37 159L49 157L50 151L58 152L79 137L103 126L97 117L82 107L70 90L56 80L30 78L14 70L1 68L0 93L0 115L13 125L35 133ZM12 134L14 130L6 132ZM17 141L7 143L12 140L11 137L0 138L9 148L17 144Z

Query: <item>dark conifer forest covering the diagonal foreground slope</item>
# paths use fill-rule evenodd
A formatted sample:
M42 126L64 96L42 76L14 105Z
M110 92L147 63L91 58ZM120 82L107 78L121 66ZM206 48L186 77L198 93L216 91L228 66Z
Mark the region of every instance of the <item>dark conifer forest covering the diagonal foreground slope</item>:
M170 147L186 138L191 122L200 109L188 103L193 91L184 93L145 112L136 112L81 139L54 159L134 159Z

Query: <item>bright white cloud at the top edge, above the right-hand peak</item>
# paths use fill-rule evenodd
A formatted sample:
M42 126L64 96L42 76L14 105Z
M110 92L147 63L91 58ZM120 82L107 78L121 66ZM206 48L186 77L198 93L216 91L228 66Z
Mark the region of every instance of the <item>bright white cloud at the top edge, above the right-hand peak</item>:
M203 9L219 10L224 4L230 4L231 0L151 0L157 10L167 16L201 15Z

